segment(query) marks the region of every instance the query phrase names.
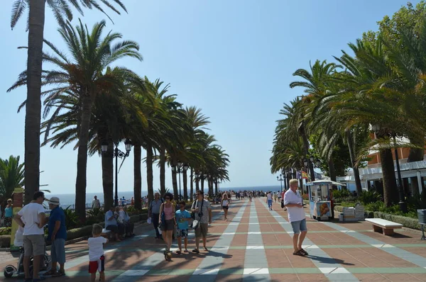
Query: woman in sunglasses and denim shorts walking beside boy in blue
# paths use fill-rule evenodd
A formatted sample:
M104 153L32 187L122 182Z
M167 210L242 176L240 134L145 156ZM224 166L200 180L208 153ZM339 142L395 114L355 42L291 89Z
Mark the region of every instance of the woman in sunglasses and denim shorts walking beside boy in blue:
M163 240L165 242L164 254L170 253L170 247L172 246L172 235L175 230L175 206L172 204L173 194L165 193L165 202L160 206L160 218L158 224L161 226Z

